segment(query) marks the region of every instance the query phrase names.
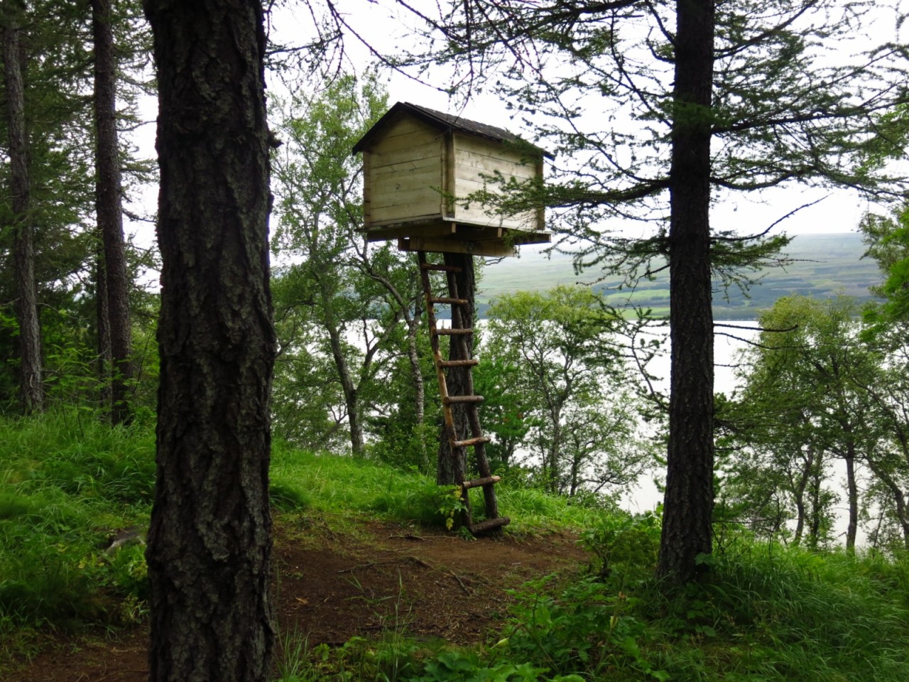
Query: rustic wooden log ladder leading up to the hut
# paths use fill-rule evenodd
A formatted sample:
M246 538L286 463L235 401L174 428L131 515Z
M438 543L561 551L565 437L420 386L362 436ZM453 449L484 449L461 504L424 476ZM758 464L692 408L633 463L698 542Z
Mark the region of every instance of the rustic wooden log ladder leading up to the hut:
M471 328L464 327L462 322L461 307L469 304L466 299L460 298L457 291L457 282L454 276L461 272L457 266L434 265L426 262L426 252L418 251L417 260L420 264L420 279L423 282L423 293L426 299L426 319L429 325L429 341L433 348L433 362L435 364L435 376L439 382L439 394L442 396L442 413L445 416L445 436L448 438L452 447L452 456L466 459L465 449L474 448L476 458L476 468L480 474L479 478L474 480L460 480L457 484L461 486L461 497L464 500L465 525L472 535L478 536L481 533L496 531L501 532L503 526L507 526L511 519L509 517L500 517L498 503L495 501L495 484L500 480L499 476L493 476L489 469L489 460L486 459L486 443L492 439L483 435L483 429L480 427L480 415L477 406L483 402L483 396L474 396L474 378L471 369L479 364L475 358L465 360L444 360L439 350L439 336L449 336L449 343L459 344L461 357L469 357L467 353L467 337L474 333ZM448 296L433 296L432 281L430 280L431 272L444 272L448 282ZM435 323L435 305L451 306L452 326L451 328L439 328ZM445 369L450 367L464 367L467 370L464 395L450 396L448 394L448 384L445 380ZM467 422L470 426L470 437L461 437L456 433L454 426L454 416L452 415L452 406L455 404L463 405L467 413ZM462 471L461 467L456 468ZM463 477L463 476L459 476ZM470 511L470 497L468 491L472 487L483 487L483 498L486 508L486 518L484 521L474 524L473 516Z

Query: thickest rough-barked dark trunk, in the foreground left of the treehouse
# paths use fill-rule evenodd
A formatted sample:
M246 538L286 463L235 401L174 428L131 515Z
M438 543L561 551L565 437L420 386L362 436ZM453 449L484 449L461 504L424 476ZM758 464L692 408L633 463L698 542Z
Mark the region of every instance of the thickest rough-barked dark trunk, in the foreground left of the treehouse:
M268 131L261 5L145 0L161 169L157 484L149 679L265 682Z

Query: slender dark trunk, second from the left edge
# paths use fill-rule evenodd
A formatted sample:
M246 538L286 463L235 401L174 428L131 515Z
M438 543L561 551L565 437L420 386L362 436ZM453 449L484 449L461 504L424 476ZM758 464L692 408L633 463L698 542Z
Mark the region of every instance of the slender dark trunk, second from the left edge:
M104 243L106 310L111 353L111 421L130 421L129 274L123 238L120 201L120 160L116 136L116 60L111 31L111 1L92 0L92 31L95 38L95 206L98 229ZM101 288L99 287L99 291Z

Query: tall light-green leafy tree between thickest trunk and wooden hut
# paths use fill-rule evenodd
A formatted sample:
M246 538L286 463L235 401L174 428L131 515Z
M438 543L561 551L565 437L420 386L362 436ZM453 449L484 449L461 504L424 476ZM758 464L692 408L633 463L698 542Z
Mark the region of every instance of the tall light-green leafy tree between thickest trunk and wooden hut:
M282 355L285 363L297 350L330 359L341 400L313 409L335 413L321 420L326 426L345 420L351 450L363 456L367 416L387 413L396 400L385 391L383 378L403 346L419 415L424 399L415 265L392 246L369 244L356 231L363 207L360 169L351 150L385 113L385 95L373 79L360 83L340 76L318 97L295 101L294 108L300 113L281 126L285 144L275 157L274 248L290 261L278 272L277 313L286 323L279 329L304 336L282 337ZM284 382L276 386L278 396L284 387Z

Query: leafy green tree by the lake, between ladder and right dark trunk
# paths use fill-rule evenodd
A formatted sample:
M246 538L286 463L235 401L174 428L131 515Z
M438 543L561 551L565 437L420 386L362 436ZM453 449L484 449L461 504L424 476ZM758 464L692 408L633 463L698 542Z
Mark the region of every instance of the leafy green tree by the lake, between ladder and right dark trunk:
M574 496L632 483L652 463L635 437L638 405L625 386L621 318L585 287L502 296L489 308L484 356L512 367L509 393L530 426L541 485Z

